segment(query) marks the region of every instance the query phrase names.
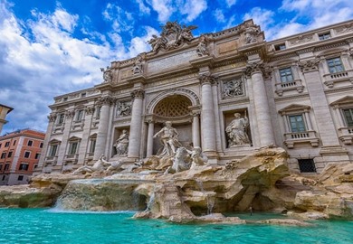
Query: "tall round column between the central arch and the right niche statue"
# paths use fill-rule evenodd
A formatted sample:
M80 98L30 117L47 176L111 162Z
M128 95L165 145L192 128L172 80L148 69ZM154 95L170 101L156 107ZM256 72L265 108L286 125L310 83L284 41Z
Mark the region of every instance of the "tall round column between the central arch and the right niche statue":
M199 79L202 86L202 149L205 153L213 154L215 153L215 112L211 82L214 81L215 78L210 75L202 75L199 77Z

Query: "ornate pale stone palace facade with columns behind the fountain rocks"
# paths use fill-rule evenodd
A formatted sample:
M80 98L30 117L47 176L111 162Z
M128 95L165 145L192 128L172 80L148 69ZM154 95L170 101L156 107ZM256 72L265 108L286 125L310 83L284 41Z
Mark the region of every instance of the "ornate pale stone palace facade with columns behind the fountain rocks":
M271 42L253 20L199 37L195 28L168 22L151 52L112 61L100 84L54 98L43 172L157 155L167 121L208 164L264 146L285 148L293 172L353 161L353 21Z

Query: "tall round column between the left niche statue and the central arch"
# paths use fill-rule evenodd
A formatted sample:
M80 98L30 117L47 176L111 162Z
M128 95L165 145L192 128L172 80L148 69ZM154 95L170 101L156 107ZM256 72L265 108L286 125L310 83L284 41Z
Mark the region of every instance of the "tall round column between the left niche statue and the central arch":
M143 89L135 89L131 92L133 100L131 111L131 124L129 136L129 152L128 157L138 158L139 147L141 145L141 127L142 127L142 103L144 98Z

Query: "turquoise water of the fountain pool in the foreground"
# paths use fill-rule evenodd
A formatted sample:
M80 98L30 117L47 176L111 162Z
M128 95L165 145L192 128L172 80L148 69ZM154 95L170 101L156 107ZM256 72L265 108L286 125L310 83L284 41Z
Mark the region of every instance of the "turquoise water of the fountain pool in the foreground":
M353 221L315 221L314 227L183 225L132 220L132 215L0 209L0 243L353 243ZM255 213L241 217L256 220L271 216Z

